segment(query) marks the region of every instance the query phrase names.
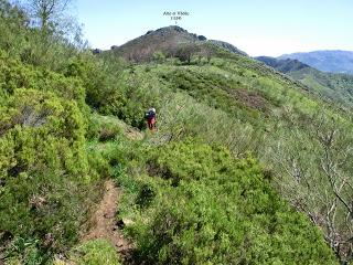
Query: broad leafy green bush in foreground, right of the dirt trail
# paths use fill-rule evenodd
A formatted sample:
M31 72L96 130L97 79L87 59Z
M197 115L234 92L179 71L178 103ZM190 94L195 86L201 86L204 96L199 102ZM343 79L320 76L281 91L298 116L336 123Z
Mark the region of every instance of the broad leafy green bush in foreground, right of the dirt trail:
M141 261L335 264L320 231L279 198L254 159L191 140L159 148L151 158L147 171L164 184L131 227Z

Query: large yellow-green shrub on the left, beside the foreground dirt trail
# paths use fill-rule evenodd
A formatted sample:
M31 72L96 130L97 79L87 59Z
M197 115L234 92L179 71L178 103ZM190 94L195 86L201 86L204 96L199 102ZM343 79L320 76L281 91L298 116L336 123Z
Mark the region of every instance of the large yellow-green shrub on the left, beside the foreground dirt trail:
M0 120L0 231L38 239L46 253L66 250L106 167L87 156L83 114L53 93L14 89Z

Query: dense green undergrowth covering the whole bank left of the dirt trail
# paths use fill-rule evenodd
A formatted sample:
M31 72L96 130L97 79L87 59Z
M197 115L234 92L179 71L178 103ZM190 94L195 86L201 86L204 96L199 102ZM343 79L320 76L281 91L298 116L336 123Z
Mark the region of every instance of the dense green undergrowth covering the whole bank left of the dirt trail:
M0 11L0 258L46 264L77 243L109 168L87 148L96 126L71 75L77 50L56 36L35 44L23 11Z

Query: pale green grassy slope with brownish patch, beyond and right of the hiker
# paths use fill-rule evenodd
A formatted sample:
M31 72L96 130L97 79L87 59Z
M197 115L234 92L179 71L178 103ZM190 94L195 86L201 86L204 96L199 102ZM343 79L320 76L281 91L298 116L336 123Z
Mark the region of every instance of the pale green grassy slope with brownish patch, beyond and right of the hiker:
M339 120L334 145L340 148L352 140L350 117L334 104L258 62L223 53L210 63L194 57L191 65L173 60L135 64L126 70L122 83L130 87L129 104L133 103L127 104L127 109L157 107L159 131L151 138L153 144L192 136L222 144L237 157L252 152L272 172L272 184L297 209L314 221L324 216L334 195L324 192L330 183L320 166L323 147L318 129L324 134L330 120ZM339 160L339 149L332 156ZM300 180L298 170L303 170ZM350 174L346 163L340 170ZM339 205L336 215L344 212ZM335 230L350 236L341 221Z

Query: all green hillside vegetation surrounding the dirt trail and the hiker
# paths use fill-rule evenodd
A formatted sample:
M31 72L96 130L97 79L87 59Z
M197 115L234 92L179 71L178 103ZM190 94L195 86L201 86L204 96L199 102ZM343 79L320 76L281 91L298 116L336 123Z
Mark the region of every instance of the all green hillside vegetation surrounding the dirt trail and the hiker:
M349 113L220 45L94 56L0 3L0 261L352 259ZM121 189L128 257L104 239L82 242L107 178Z

